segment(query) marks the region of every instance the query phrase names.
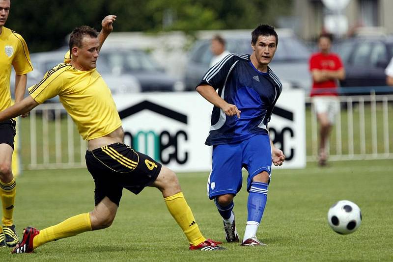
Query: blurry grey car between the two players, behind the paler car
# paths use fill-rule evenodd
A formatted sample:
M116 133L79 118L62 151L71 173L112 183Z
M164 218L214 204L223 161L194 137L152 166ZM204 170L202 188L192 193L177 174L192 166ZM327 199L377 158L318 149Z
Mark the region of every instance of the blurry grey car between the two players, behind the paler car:
M169 76L149 53L138 49L106 46L100 52L97 70L113 76L133 76L138 79L141 92L184 90L180 79Z

